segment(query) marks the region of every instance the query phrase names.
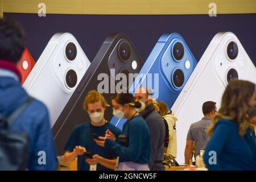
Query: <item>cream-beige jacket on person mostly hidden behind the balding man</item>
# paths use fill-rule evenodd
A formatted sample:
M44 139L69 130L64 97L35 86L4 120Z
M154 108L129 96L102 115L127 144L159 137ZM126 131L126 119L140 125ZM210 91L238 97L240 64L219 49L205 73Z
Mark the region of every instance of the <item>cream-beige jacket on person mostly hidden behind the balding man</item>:
M174 114L166 114L163 116L168 123L169 128L169 144L167 148L167 155L177 156L177 137L176 137L176 121L177 118Z

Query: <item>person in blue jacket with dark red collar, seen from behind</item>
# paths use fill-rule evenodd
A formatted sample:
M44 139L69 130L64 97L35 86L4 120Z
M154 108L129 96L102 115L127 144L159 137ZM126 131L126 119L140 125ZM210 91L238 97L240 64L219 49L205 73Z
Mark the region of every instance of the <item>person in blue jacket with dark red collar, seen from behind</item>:
M24 51L22 27L11 19L0 19L0 114L6 118L28 100L16 68ZM46 106L33 100L11 126L28 136L28 170L56 170L57 158ZM42 155L43 154L43 155ZM45 163L40 159L45 158ZM20 156L22 158L22 156Z

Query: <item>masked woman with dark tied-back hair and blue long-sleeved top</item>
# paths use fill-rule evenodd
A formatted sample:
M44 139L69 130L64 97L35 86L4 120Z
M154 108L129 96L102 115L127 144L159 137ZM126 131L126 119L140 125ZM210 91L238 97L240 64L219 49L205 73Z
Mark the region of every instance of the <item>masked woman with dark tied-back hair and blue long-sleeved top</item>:
M112 148L117 156L119 171L146 171L150 162L150 131L135 108L141 107L130 93L115 94L112 98L113 114L119 119L127 118L122 134L117 137L107 131L106 138L95 140L104 148Z

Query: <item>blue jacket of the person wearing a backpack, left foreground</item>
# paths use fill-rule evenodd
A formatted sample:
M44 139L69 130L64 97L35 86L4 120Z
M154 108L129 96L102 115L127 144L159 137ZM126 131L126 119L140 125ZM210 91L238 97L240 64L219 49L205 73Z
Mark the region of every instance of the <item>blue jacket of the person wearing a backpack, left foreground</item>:
M8 71L0 69L0 73ZM13 72L9 71L12 75ZM15 80L15 76L4 76L0 74L0 114L8 117L16 107L22 105L27 99L28 94ZM23 131L28 135L29 143L29 160L27 168L29 170L55 170L57 169L57 158L55 145L51 134L49 115L46 106L38 101L33 100L11 126L13 131ZM39 152L44 151L46 164L39 164ZM22 156L20 156L22 158Z

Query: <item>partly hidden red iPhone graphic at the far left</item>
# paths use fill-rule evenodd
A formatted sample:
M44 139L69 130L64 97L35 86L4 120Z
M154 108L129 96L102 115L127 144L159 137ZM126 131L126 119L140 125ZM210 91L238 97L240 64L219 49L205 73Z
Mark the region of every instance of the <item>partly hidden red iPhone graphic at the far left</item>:
M28 75L30 75L30 72L32 68L34 68L34 65L35 61L30 55L30 52L28 52L28 49L25 47L22 53L22 57L18 62L18 69L22 77L21 84L23 84L27 79Z

